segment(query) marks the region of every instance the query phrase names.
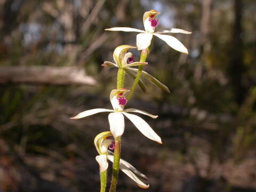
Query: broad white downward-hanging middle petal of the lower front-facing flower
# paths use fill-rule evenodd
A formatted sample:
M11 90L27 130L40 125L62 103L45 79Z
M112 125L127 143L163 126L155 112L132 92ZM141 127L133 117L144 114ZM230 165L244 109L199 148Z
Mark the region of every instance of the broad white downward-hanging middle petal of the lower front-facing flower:
M108 122L110 125L110 131L115 138L124 133L124 116L121 113L110 113L108 115Z

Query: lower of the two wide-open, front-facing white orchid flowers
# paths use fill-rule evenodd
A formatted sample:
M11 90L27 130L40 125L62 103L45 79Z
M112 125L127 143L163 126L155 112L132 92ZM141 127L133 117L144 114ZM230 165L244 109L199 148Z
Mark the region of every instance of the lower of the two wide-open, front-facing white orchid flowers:
M101 112L110 112L108 115L108 121L110 125L110 131L114 135L114 137L119 137L124 133L124 116L130 119L130 121L137 127L137 129L145 135L147 138L154 140L158 143L162 144L161 138L156 134L156 132L149 126L149 124L144 121L141 117L137 115L133 115L130 113L140 113L143 115L147 115L151 118L157 118L157 115L152 115L147 113L146 111L142 111L139 109L124 109L124 106L127 103L127 99L124 97L124 94L128 90L119 89L112 90L110 92L110 102L113 106L113 110L111 109L90 109L79 113L78 115L71 117L70 119L80 119L93 114L101 113Z

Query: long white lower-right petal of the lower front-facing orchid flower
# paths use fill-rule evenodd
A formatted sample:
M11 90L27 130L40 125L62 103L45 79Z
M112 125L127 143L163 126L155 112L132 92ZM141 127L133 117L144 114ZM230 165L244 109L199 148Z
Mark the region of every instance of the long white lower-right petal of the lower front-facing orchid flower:
M145 135L147 138L162 144L161 138L156 132L149 126L149 124L137 115L128 114L122 112L131 122L137 127L137 129Z

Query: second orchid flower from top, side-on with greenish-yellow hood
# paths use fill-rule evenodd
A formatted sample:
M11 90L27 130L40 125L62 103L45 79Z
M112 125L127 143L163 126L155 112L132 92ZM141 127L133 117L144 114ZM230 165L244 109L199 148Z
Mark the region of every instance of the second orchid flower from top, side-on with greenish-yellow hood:
M120 45L116 47L113 58L115 63L110 61L104 61L102 66L104 67L117 67L117 68L123 68L127 72L128 75L130 75L133 79L136 78L136 73L138 72L138 69L132 68L139 65L147 65L147 62L133 62L133 54L131 52L127 52L129 49L134 49L136 47L131 45ZM166 91L167 93L170 93L170 90L166 85L158 81L155 77L148 74L146 71L142 70L142 76L145 77L150 83L153 85L161 88L162 90ZM142 91L146 92L147 88L146 85L143 83L141 79L139 79L139 86L142 89Z

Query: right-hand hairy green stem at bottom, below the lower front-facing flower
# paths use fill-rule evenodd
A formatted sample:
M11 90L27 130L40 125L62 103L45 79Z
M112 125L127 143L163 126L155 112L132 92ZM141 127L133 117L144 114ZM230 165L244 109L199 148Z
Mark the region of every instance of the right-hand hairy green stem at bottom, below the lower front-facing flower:
M121 137L117 137L115 138L114 162L113 162L112 180L111 180L111 186L110 186L109 192L116 191L120 157L121 157Z

